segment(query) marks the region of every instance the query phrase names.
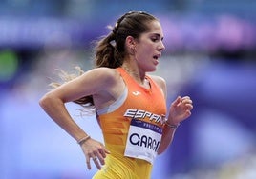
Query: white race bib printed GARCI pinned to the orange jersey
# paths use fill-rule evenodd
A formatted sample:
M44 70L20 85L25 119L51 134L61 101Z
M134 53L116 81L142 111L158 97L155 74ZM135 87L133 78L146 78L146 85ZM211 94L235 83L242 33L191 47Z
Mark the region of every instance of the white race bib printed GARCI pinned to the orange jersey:
M160 147L162 129L157 125L132 119L124 155L153 164Z

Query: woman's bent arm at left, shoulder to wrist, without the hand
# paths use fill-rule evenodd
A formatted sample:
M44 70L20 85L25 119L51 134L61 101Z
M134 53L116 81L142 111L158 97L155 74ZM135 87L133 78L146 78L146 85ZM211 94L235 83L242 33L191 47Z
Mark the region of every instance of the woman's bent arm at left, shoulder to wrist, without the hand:
M64 103L75 101L83 96L93 95L102 87L107 87L107 75L102 70L90 70L57 89L45 94L39 101L40 106L62 129L65 129L76 141L87 135L72 120ZM109 80L108 80L109 81Z

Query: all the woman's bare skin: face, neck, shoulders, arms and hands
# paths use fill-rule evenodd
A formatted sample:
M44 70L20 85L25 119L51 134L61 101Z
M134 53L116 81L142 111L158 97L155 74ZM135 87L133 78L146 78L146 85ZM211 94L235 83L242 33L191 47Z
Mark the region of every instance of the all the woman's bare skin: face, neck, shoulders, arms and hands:
M140 86L146 89L150 87L145 80L145 75L147 72L157 69L161 52L164 50L160 22L152 21L149 27L151 27L150 30L142 33L139 39L132 36L126 37L125 48L128 52L121 66L129 72ZM166 97L167 91L164 79L159 76L151 77L160 86ZM124 88L125 84L117 70L96 68L88 70L74 80L48 92L40 99L39 104L59 127L67 131L76 141L79 141L88 136L88 133L75 123L64 104L83 96L93 95L96 109L102 109L113 104ZM193 109L193 105L189 96L177 97L170 106L167 123L179 125L191 115L191 109ZM163 129L159 154L171 144L175 130L175 128ZM82 143L81 148L88 169L91 169L91 162L96 165L97 169L101 169L101 166L105 164L104 158L110 153L101 142L96 141L93 137ZM97 160L90 161L91 158L97 158Z

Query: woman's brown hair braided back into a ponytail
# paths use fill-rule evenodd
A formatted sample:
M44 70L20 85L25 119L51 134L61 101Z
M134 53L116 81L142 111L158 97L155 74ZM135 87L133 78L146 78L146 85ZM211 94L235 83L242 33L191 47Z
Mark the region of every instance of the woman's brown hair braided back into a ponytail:
M141 33L149 30L148 22L158 20L156 17L142 11L130 11L122 15L107 35L96 42L96 56L94 58L96 68L117 68L123 64L126 55L125 40L127 36L139 39ZM62 75L65 72L62 71ZM56 84L54 84L56 86ZM93 107L92 96L85 96L74 101L83 107Z

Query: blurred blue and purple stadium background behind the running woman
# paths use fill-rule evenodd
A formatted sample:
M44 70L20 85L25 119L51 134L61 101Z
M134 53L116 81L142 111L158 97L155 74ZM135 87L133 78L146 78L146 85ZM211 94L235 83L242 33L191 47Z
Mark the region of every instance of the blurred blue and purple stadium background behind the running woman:
M194 101L152 179L256 178L256 1L2 0L0 178L92 178L75 140L40 109L57 69L92 68L93 43L130 10L160 19L166 50L155 72ZM102 141L94 116L75 121Z

